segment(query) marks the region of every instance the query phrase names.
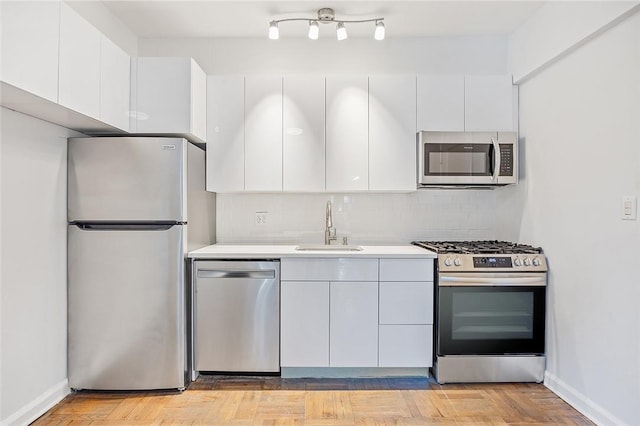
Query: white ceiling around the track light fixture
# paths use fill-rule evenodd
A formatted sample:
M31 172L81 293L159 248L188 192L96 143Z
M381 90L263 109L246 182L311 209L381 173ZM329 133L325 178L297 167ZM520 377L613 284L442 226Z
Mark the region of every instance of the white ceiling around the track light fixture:
M126 1L102 3L141 38L267 37L269 21L315 18L331 7L336 19L384 17L387 38L506 35L543 1ZM373 23L348 24L349 37L372 37ZM306 22L283 22L280 38L306 37ZM335 37L321 25L320 37Z

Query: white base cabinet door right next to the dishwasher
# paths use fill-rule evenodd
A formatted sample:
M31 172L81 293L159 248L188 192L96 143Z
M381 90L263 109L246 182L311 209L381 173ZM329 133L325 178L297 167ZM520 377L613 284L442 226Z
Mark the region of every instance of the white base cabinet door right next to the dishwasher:
M329 283L283 281L280 365L329 366Z

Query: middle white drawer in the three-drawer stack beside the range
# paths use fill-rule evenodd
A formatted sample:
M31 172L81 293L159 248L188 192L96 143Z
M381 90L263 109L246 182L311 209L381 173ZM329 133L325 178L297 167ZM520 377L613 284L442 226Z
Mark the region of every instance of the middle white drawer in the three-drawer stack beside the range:
M380 324L433 324L433 283L381 282Z

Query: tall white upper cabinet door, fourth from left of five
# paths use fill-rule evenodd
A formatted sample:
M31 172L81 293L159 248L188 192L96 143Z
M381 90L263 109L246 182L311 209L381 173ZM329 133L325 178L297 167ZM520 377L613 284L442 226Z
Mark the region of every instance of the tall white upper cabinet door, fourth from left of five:
M327 77L327 191L369 187L368 79Z

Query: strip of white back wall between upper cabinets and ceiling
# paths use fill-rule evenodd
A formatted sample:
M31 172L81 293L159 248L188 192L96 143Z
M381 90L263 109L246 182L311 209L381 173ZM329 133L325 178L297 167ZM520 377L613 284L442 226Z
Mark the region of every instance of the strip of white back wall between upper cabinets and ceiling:
M504 74L507 38L141 39L140 56L192 56L207 74Z

